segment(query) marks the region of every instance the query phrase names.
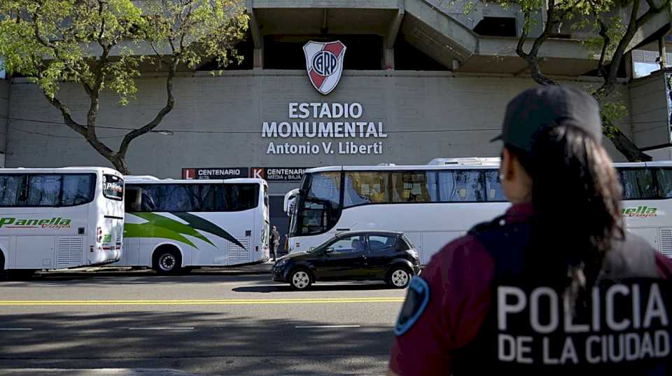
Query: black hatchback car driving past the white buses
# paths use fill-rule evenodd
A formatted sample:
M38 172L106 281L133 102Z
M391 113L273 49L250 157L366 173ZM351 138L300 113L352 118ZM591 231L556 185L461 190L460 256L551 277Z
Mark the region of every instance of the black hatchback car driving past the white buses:
M273 280L303 290L315 281L380 279L405 288L420 272L418 252L401 233L342 232L307 252L290 253L273 266Z

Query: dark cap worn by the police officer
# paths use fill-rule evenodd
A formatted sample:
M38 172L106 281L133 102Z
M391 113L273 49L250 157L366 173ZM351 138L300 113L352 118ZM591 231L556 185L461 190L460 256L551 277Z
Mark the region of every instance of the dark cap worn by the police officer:
M521 92L506 106L501 140L531 151L533 141L541 130L558 125L573 125L602 140L600 106L582 90L558 85L545 85Z

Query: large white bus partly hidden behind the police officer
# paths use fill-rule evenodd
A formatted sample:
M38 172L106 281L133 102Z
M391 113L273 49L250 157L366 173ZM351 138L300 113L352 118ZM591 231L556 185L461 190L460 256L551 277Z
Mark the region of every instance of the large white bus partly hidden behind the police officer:
M672 256L672 162L619 163L627 228ZM287 193L288 251L307 251L337 232L400 231L426 264L442 246L509 207L498 158L437 159L419 166L309 169Z

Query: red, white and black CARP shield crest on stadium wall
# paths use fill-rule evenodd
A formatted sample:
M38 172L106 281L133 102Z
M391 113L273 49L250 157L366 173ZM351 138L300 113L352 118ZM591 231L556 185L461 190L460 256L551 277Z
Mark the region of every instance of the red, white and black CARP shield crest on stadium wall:
M318 92L328 95L338 85L343 73L346 47L341 41L320 43L309 41L303 46L310 83Z

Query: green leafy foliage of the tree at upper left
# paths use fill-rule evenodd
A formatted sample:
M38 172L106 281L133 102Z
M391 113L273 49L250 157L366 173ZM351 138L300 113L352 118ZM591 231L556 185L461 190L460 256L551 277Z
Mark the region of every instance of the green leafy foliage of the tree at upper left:
M144 60L239 62L247 22L242 0L1 0L0 56L8 74L27 76L48 97L71 82L128 104Z

